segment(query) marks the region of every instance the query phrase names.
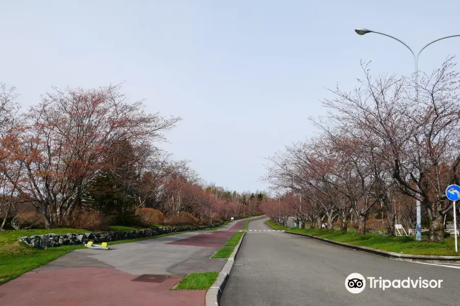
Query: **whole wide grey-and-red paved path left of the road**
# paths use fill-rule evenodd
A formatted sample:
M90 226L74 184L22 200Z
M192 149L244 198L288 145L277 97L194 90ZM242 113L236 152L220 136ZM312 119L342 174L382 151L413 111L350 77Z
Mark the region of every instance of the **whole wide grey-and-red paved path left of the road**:
M170 290L192 272L221 271L226 259L210 259L235 232L190 232L78 249L0 286L0 304L13 305L204 305L206 290ZM166 275L162 283L133 282L142 274Z

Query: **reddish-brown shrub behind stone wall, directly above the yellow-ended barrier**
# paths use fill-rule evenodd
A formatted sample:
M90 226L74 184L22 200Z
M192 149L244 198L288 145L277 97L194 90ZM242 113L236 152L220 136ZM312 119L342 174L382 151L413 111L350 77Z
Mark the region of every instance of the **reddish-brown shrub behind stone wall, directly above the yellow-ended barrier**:
M67 221L67 226L73 228L85 228L87 230L103 230L110 225L111 218L101 211L75 209L72 217Z

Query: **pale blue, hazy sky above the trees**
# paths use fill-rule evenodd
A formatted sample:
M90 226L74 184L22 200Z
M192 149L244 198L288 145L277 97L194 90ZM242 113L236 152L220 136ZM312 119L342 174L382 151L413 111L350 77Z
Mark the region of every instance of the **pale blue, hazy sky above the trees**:
M308 118L338 84L410 76L409 50L460 34L460 2L0 0L0 83L27 107L58 88L124 82L146 111L183 118L160 146L208 183L267 189L266 157L318 134ZM427 47L419 69L458 55L460 37Z

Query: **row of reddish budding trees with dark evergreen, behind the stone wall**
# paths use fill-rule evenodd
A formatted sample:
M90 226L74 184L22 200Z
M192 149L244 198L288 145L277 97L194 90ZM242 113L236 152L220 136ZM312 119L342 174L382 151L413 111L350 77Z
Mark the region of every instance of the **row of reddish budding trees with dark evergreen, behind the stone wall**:
M83 212L118 223L146 209L200 223L258 212L265 193L206 185L158 147L181 118L147 113L120 90L54 88L24 110L16 89L0 84L0 228L25 207L46 228Z

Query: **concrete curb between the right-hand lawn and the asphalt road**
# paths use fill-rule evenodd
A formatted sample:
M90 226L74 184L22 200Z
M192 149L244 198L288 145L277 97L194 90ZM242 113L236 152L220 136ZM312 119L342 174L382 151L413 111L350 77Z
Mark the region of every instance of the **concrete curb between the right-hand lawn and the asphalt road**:
M418 261L418 262L460 262L460 256L438 256L438 255L413 255L413 254L402 254L402 253L395 253L395 252L390 252L390 251L384 251L384 250L379 250L375 249L372 247L367 247L367 246L360 246L356 244L350 244L346 242L338 242L326 238L321 238L321 237L316 237L308 234L301 234L301 233L292 233L292 232L285 232L288 234L293 234L293 235L300 235L300 236L306 236L309 238L313 238L316 240L321 240L324 242L328 242L331 244L335 244L341 247L346 247L346 248L351 248L354 250L360 250L362 252L366 253L371 253L377 256L382 256L386 257L389 259L393 260L400 260L400 261Z

